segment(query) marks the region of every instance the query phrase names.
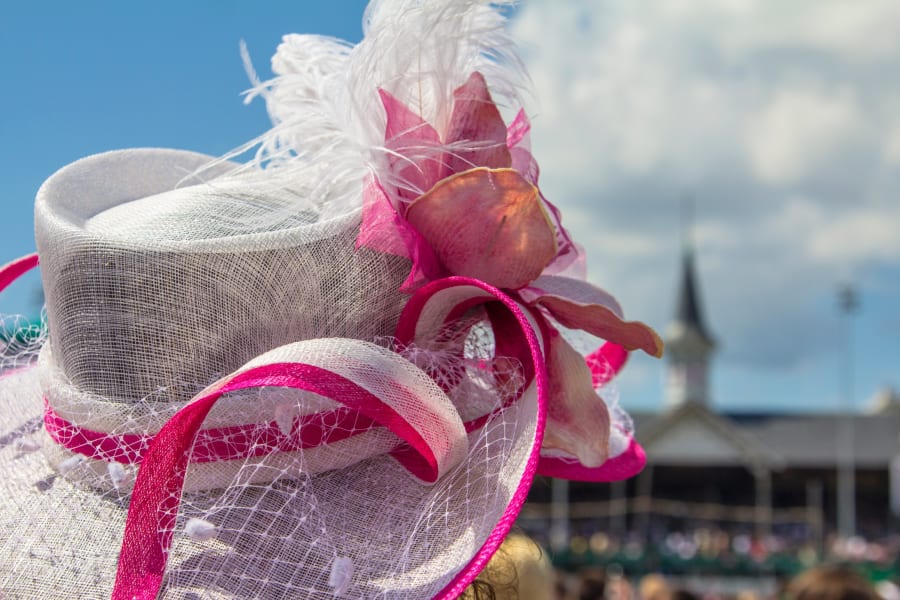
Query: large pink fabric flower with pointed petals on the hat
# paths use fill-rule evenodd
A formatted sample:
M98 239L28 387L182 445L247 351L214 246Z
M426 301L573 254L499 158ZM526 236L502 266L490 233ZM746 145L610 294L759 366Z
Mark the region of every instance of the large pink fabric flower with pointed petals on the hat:
M406 291L460 275L533 307L551 388L544 447L599 467L608 458L610 417L595 388L605 382L595 381L553 323L657 357L662 341L647 325L625 321L616 300L584 280L583 251L537 187L527 117L520 111L507 127L480 73L454 91L443 132L380 95L389 172L366 186L357 245L409 258Z

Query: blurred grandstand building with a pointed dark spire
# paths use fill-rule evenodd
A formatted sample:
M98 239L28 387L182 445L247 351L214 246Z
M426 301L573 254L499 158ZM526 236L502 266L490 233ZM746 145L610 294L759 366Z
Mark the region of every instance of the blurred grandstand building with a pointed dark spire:
M883 392L867 414L716 411L709 385L716 343L694 262L686 250L665 336L664 409L632 414L646 468L614 484L539 481L523 527L556 548L598 532L652 543L673 531L704 529L751 539L775 536L821 550L849 509L852 530L841 533L878 539L895 532L900 397ZM838 444L848 430L854 484L849 507L839 483L847 456Z

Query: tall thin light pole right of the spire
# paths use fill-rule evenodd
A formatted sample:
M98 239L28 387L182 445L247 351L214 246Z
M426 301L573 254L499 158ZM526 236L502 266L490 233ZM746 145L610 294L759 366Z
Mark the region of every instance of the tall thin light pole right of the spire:
M859 310L859 296L852 285L838 288L838 308L843 315L844 368L841 409L838 410L837 509L838 533L856 535L856 455L853 424L853 315Z

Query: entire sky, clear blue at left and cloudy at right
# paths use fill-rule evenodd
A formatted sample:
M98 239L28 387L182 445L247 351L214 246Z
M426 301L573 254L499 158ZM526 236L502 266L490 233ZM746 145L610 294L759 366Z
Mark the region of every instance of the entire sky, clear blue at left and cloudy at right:
M55 169L129 146L224 153L266 126L241 103L239 40L265 75L284 33L358 40L363 6L22 4L0 8L0 262L33 250ZM862 303L856 404L900 386L900 4L525 0L511 30L544 192L591 279L661 331L693 206L717 406L839 406L843 283ZM26 310L29 285L0 311ZM663 374L633 360L623 403L659 407Z

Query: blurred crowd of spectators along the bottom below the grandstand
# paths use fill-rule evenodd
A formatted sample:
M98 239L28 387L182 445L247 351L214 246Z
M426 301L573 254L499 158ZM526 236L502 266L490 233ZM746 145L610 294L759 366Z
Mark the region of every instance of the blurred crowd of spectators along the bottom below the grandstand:
M771 539L769 539L771 537ZM574 536L570 548L551 554L531 538L507 538L479 577L468 600L900 600L897 586L898 540L866 542L832 538L826 552L790 547L778 536L758 540L722 530L670 533L660 552L681 561L706 557L695 571L648 568L648 562L614 560L627 552L648 554L633 540L618 543L603 534ZM717 568L715 560L744 556L762 567L777 553L804 555L796 568L775 572L764 568L735 576ZM580 557L581 560L575 560ZM593 560L587 560L592 558ZM612 559L612 560L611 560ZM652 561L651 561L652 562ZM657 564L657 566L658 566ZM884 568L873 570L868 565ZM479 587L480 586L480 587Z

